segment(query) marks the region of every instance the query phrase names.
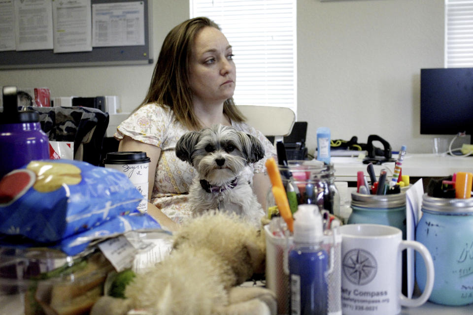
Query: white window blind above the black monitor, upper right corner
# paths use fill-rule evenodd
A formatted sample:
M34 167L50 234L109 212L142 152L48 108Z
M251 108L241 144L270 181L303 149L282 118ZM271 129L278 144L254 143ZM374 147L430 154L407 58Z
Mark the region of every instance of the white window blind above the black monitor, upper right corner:
M445 0L445 67L473 67L473 0Z

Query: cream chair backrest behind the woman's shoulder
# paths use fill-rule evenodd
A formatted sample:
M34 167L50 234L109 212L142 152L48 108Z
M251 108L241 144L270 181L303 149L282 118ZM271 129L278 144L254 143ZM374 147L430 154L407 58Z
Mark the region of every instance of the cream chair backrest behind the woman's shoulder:
M296 114L287 107L259 105L237 105L237 107L246 117L248 125L260 130L265 136L275 136L275 141L289 135L296 121Z

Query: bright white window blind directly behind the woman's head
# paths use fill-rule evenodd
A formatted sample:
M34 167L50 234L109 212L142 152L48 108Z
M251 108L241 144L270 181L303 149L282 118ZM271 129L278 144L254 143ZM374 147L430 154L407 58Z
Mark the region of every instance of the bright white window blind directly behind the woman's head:
M190 0L191 18L206 16L233 47L237 105L296 112L296 0Z

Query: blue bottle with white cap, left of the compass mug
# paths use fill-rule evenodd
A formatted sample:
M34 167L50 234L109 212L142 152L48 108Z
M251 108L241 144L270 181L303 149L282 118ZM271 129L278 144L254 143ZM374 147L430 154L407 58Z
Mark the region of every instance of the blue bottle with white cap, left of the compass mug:
M295 247L289 252L291 315L326 315L328 253L322 248L322 216L316 205L304 204L294 219Z

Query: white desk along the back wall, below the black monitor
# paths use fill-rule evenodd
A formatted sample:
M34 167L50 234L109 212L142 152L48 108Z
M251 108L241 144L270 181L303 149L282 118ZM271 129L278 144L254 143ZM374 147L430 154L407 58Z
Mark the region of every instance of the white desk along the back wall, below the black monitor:
M393 155L393 158L397 158L397 155ZM334 163L336 181L356 182L358 171L363 171L368 176L367 165L358 158L332 157L331 161ZM382 168L388 170L388 176L392 175L394 164L394 162L388 162L374 165L376 176L379 176ZM403 175L410 177L446 177L456 172L473 173L473 156L452 157L407 153L402 167Z

